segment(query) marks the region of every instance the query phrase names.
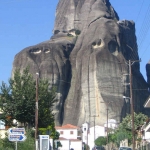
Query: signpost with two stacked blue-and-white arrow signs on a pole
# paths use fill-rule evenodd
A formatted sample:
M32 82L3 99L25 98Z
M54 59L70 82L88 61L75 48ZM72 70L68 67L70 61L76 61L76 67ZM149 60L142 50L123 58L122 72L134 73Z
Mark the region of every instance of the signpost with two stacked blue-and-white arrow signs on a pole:
M26 140L25 129L24 128L9 128L7 130L8 140L11 142L16 142L16 150L17 150L17 142L22 142Z

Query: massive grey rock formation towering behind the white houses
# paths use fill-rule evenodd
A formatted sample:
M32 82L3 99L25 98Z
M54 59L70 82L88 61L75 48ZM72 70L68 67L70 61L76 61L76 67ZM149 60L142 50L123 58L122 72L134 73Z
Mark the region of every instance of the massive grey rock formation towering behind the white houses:
M109 0L60 0L54 35L18 53L13 70L30 66L58 87L56 124L81 125L93 117L104 124L107 109L118 122L129 113L122 96L130 96L128 60L138 59L134 22L120 21ZM148 92L137 89L148 86L139 63L132 72L134 108L144 112Z

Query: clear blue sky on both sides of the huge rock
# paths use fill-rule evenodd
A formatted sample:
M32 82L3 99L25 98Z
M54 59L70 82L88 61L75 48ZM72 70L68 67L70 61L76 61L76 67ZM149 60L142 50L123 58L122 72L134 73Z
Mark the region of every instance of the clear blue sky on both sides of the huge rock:
M50 39L59 0L0 0L0 84L11 77L15 55ZM120 20L133 20L139 47L140 70L150 60L150 0L110 0Z

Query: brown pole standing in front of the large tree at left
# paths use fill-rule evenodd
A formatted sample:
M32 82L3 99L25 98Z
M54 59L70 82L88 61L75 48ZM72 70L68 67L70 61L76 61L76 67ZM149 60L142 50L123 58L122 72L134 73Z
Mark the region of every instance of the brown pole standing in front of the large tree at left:
M36 73L36 102L35 102L35 150L38 150L38 77Z

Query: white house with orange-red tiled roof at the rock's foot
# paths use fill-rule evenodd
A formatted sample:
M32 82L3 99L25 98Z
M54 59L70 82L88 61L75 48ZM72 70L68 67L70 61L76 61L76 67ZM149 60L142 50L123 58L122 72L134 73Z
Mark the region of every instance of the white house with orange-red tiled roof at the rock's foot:
M64 126L55 127L55 129L60 133L59 141L62 147L59 150L82 150L82 140L78 139L80 128L73 126L71 124L66 124Z

